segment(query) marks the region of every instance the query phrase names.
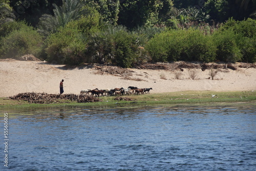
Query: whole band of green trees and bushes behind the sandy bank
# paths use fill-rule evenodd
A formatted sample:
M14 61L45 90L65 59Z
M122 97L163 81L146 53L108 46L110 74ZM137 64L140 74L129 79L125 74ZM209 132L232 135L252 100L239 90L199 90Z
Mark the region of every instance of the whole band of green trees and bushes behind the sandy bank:
M256 62L252 0L0 3L0 58L29 53L67 65L126 68L177 60Z

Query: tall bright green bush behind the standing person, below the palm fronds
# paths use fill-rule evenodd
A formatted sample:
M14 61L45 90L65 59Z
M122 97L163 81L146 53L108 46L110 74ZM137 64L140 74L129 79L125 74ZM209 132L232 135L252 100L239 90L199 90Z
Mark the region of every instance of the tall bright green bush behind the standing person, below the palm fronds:
M72 20L47 38L48 61L68 65L92 62L92 57L86 53L87 42L89 35L100 31L100 15L93 9L87 11L90 11L88 15Z

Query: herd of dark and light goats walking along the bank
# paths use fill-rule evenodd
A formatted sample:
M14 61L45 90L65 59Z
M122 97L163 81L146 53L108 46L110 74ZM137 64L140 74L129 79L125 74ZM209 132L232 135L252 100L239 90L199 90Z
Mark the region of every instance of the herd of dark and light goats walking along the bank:
M153 90L152 88L144 88L144 89L138 89L137 87L128 87L127 89L124 88L115 88L115 89L87 89L87 90L81 90L80 94L90 94L93 96L121 96L121 95L139 95L144 93L150 93L150 90Z

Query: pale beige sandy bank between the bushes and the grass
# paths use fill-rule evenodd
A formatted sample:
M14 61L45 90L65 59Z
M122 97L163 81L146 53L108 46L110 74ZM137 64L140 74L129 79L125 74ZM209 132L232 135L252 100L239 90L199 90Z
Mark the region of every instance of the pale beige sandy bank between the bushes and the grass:
M95 74L92 66L67 68L44 61L0 60L0 97L9 97L18 93L59 93L59 83L64 79L64 93L79 94L84 89L152 88L150 93L180 91L256 91L256 69L239 68L236 71L218 72L215 79L208 79L209 70L197 69L196 79L191 79L188 69L176 71L139 70L133 71L132 78L142 81L126 80L120 76ZM224 71L224 70L223 70ZM180 72L180 79L175 79ZM160 77L165 77L161 79Z

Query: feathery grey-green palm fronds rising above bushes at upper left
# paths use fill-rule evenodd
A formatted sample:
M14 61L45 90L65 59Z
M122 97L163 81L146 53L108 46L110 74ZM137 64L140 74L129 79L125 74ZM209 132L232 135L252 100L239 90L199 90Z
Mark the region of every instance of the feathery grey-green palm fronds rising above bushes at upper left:
M54 15L44 14L39 19L38 31L45 36L57 32L60 27L88 13L86 8L82 8L84 3L79 0L62 0L61 7L56 4L53 6Z

